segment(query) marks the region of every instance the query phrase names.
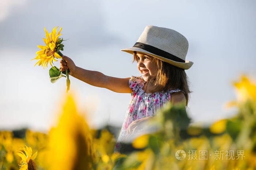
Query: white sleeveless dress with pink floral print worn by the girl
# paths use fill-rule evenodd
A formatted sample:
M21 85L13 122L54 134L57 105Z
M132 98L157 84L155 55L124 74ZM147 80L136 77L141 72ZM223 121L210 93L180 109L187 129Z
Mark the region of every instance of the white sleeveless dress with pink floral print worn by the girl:
M146 118L148 116L155 116L156 111L165 105L167 102L170 102L172 92L181 91L179 89L171 90L167 92L155 92L145 93L142 90L146 82L142 79L139 79L136 76L131 76L129 79L129 87L132 89L131 100L128 105L124 122L117 139L116 146L114 147L114 152L120 152L121 143L123 139L128 135L127 128L134 120ZM183 92L183 91L182 91Z

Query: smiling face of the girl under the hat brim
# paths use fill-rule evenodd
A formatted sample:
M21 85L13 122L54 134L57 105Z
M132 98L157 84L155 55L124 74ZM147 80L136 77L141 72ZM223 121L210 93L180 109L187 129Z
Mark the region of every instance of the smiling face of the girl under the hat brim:
M153 62L153 56L137 52L138 64L137 67L143 76L144 81L148 81L157 71L157 64Z

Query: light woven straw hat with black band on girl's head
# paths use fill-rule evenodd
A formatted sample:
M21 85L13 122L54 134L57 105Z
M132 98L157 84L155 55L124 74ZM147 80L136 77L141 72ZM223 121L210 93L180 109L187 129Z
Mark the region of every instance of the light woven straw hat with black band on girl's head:
M185 60L188 40L169 28L147 25L134 46L121 51L130 54L133 51L143 52L185 70L193 65L193 62Z

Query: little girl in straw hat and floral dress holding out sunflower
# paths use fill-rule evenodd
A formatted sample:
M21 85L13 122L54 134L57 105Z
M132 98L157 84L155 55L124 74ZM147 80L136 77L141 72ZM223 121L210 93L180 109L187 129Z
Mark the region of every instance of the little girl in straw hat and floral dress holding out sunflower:
M69 74L83 82L114 92L130 93L123 126L114 151L121 149L120 143L133 133L136 127L156 116L155 113L167 102L188 105L188 87L185 70L193 62L186 61L188 40L179 32L152 25L146 26L137 42L131 48L121 51L133 54L142 76L115 78L98 71L77 67L67 56L62 56L60 70L69 69Z

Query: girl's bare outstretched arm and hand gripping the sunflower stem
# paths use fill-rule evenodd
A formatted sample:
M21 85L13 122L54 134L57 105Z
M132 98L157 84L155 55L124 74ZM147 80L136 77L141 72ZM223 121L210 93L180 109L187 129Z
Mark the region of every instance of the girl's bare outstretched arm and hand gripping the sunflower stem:
M115 78L111 76L106 76L98 71L85 70L83 68L77 67L75 63L67 56L62 56L63 60L60 61L60 70L65 71L69 69L69 75L88 83L92 86L107 88L111 91L118 93L131 93L132 90L129 87L129 77L128 78Z

